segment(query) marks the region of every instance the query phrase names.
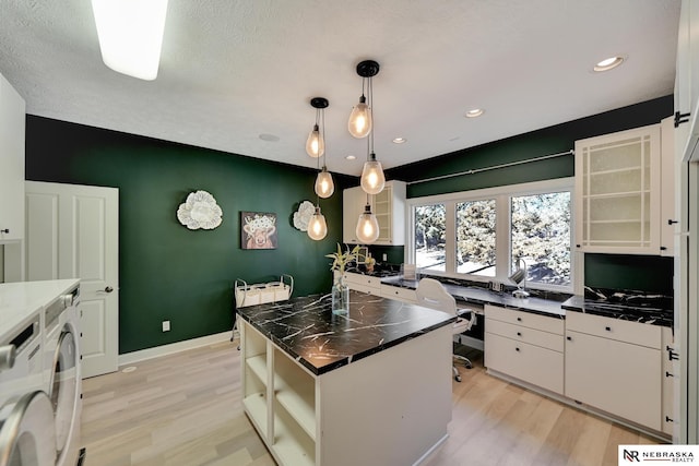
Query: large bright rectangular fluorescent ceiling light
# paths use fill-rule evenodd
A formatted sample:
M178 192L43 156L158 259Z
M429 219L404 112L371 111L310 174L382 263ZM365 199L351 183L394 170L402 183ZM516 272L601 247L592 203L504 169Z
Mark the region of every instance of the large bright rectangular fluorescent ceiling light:
M167 0L92 0L105 64L153 81L161 62Z

